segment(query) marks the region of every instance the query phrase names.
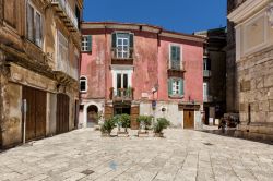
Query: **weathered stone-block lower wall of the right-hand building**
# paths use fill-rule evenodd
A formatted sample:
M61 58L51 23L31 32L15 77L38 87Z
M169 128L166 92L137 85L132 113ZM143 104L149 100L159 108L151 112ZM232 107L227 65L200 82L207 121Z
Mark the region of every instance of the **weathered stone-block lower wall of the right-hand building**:
M273 47L238 62L241 130L272 134Z

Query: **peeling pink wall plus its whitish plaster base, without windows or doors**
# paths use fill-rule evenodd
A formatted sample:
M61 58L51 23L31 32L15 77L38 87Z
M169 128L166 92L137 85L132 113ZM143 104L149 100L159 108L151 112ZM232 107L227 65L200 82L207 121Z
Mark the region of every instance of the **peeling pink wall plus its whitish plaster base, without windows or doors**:
M121 29L119 29L121 31ZM111 73L111 33L114 29L83 29L83 35L92 35L92 52L82 53L81 75L87 77L87 92L82 93L84 110L80 113L81 124L85 124L86 107L94 102L109 100L109 88L112 85ZM122 32L122 31L121 31ZM128 32L128 31L127 31ZM134 34L134 55L132 87L134 104L140 105L140 114L154 114L156 118L166 117L173 126L183 126L183 111L178 109L182 101L195 100L203 102L203 44L158 37L157 34L132 31ZM182 62L186 65L185 97L174 99L168 97L168 64L170 45L181 47ZM115 64L116 65L116 64ZM124 64L118 64L124 65ZM155 84L158 92L152 94ZM142 93L149 97L143 98ZM156 110L152 110L151 100L157 100ZM161 108L167 108L162 112ZM100 108L99 108L100 109ZM202 110L201 106L201 110ZM201 111L195 111L195 128L201 126Z

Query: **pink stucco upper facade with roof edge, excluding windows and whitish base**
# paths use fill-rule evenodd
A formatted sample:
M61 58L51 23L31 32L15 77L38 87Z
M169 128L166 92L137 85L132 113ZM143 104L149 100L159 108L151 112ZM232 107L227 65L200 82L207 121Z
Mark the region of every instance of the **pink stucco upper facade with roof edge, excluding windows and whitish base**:
M115 32L133 34L133 57L129 64L112 63L111 36ZM128 67L132 69L132 102L156 100L178 105L194 101L202 105L204 39L156 26L116 23L84 23L82 34L92 36L92 51L82 52L81 75L87 79L87 92L81 94L83 101L110 100L110 88L115 87L112 69ZM169 70L170 45L180 47L181 71ZM181 97L168 95L168 80L174 74L183 79ZM158 90L152 94L155 85Z

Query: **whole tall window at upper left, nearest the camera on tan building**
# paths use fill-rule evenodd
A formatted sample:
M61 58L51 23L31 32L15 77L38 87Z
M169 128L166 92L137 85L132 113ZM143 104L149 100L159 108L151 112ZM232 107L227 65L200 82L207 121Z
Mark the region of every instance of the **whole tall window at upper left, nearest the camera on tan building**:
M26 20L27 38L37 46L41 47L43 44L41 15L29 2L27 3L26 11L27 11L27 20Z

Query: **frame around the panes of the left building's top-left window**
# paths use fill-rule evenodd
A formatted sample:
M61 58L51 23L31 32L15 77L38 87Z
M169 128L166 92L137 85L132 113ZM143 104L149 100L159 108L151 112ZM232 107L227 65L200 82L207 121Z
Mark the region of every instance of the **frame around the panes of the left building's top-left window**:
M33 9L33 31L32 31L32 36L33 38L31 38L29 34L28 34L28 5ZM43 14L40 13L40 11L36 8L36 5L31 1L31 0L27 0L26 1L26 21L25 21L25 24L26 24L26 38L32 41L33 44L35 44L36 46L38 46L39 48L43 48L44 47L44 16ZM40 32L38 33L38 35L40 37L36 37L37 36L37 27L38 27L38 24L37 24L37 20L36 20L36 15L39 15L40 16L40 24L39 24L39 28L40 28ZM39 38L39 39L38 39ZM38 40L38 41L37 41Z

